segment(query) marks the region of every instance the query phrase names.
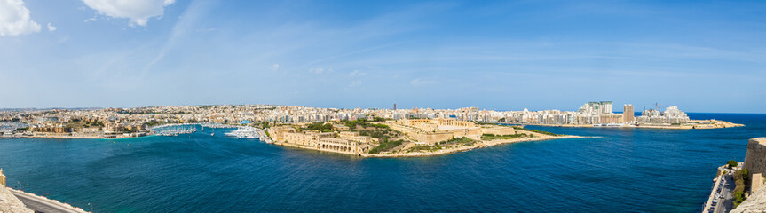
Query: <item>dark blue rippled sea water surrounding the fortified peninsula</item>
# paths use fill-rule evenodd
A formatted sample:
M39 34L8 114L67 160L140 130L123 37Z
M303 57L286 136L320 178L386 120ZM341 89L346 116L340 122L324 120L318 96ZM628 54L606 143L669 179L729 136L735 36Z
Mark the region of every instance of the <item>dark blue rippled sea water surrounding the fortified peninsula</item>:
M205 133L0 139L9 186L96 212L695 212L766 114L717 130L532 127L601 138L426 158L326 154Z

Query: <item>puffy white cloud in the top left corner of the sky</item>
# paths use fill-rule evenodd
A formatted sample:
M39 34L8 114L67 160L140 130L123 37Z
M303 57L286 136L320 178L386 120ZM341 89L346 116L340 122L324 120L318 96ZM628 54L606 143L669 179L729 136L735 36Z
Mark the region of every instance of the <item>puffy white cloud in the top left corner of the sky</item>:
M29 13L22 0L0 0L0 36L40 32L40 24L29 20Z

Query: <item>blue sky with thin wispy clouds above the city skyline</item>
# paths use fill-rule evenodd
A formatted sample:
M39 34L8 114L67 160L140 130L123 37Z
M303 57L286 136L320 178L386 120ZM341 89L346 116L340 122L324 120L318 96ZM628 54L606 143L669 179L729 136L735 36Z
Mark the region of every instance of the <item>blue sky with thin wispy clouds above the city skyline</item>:
M763 11L757 1L0 0L0 107L612 100L766 113Z

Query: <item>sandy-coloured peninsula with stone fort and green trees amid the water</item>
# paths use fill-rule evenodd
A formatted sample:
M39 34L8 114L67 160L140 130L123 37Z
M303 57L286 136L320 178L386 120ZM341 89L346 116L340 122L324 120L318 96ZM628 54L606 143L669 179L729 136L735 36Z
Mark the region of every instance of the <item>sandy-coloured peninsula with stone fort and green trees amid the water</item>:
M451 154L523 141L580 138L520 126L457 121L449 118L303 123L268 129L273 143L364 157L415 157Z

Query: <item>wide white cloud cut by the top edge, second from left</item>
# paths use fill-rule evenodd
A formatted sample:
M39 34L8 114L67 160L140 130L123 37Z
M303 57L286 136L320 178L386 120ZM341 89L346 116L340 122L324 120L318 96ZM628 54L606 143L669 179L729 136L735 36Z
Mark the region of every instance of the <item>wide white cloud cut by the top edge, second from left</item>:
M130 19L130 26L146 26L149 18L162 17L165 6L176 0L83 0L85 5L100 14Z

